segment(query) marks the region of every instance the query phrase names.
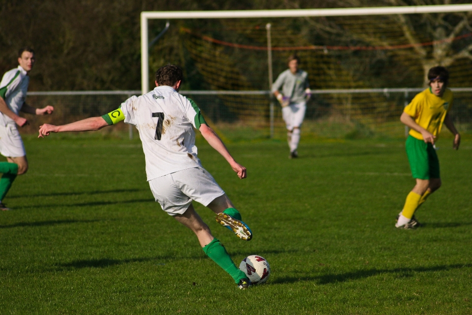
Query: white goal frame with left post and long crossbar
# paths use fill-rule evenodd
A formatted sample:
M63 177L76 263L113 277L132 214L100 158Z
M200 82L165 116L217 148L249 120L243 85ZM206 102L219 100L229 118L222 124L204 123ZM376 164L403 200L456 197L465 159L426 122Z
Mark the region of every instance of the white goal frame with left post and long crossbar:
M149 92L149 19L241 19L241 18L285 18L313 16L354 16L383 14L418 14L469 12L472 4L386 6L338 9L297 9L297 10L234 10L234 11L144 11L141 12L141 93Z

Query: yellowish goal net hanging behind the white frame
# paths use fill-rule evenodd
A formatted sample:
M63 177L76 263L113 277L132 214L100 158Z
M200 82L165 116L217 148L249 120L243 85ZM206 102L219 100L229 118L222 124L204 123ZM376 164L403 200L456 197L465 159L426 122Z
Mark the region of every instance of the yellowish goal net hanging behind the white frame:
M472 117L467 11L472 6L430 6L429 12L433 7L441 13L189 19L180 12L182 18L171 20L169 30L148 48L148 84L159 66L179 64L185 75L182 94L194 98L222 133L269 136L273 127L274 136L283 137L280 106L268 91L270 67L275 80L296 53L315 90L302 133L401 136L403 107L426 87L427 70L444 65L449 86L459 88L454 121L467 131ZM161 32L165 13L154 12L154 20L148 14L147 40Z

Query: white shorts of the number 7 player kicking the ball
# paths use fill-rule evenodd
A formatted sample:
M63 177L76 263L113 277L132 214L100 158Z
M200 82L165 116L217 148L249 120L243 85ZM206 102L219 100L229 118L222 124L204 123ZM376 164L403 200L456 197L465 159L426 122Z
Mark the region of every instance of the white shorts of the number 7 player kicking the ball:
M154 198L171 216L183 214L192 200L207 206L225 192L203 167L184 169L149 181Z

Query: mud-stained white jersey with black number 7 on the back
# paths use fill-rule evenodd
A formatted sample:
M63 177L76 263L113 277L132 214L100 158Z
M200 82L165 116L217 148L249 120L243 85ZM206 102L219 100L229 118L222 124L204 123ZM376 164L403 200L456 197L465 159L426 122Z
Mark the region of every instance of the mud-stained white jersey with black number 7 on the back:
M193 100L172 87L159 86L148 94L128 98L120 108L124 122L139 130L148 181L202 166L193 128L206 122ZM109 124L115 123L112 119Z

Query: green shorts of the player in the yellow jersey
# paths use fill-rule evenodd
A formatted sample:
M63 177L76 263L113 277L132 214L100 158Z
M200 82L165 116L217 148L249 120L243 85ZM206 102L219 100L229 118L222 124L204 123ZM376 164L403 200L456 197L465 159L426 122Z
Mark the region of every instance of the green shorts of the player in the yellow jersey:
M411 135L405 144L413 178L440 178L439 159L431 143L424 143Z

